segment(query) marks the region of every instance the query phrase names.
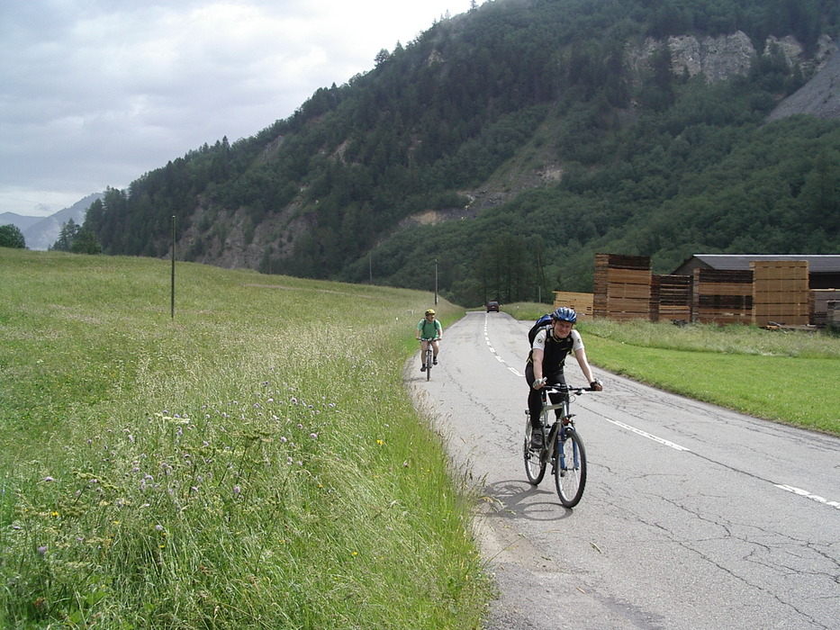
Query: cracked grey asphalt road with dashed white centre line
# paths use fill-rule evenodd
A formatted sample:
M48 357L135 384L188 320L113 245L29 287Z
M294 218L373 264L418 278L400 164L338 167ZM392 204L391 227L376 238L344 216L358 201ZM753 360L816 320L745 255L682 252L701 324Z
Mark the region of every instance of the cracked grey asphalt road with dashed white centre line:
M527 330L469 313L445 330L431 381L419 355L406 367L484 499L477 537L500 590L487 628L840 628L840 440L639 385L590 356L605 391L574 401L589 471L565 509L550 474L537 488L525 477Z

